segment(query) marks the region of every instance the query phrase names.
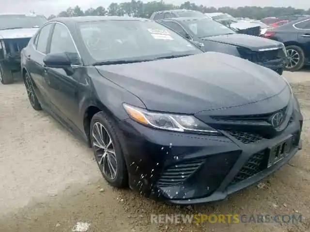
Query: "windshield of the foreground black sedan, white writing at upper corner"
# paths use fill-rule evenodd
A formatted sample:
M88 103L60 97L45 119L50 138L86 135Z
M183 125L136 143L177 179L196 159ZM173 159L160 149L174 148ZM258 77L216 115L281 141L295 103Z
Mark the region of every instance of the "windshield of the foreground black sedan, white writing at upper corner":
M83 22L79 29L95 62L202 53L182 36L154 21Z

